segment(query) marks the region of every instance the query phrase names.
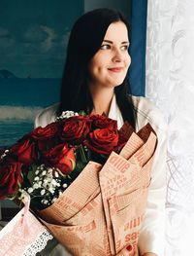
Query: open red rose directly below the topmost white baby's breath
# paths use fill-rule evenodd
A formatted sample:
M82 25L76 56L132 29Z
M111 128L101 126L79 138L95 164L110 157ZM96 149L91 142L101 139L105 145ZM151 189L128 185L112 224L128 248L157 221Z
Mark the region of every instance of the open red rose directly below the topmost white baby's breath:
M87 117L74 116L68 118L61 132L61 140L72 144L81 144L91 127L91 122Z

